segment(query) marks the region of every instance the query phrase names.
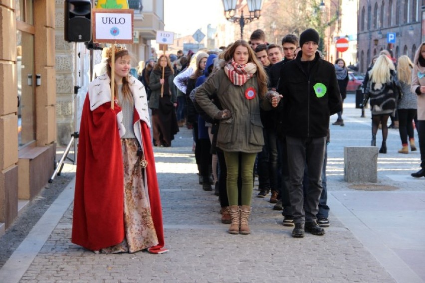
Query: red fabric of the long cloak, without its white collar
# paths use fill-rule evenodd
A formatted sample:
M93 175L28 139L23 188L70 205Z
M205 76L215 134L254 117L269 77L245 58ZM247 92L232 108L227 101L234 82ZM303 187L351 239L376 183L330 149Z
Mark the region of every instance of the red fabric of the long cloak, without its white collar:
M91 111L88 95L83 106L71 241L92 251L117 245L124 239L124 168L116 127L116 115L120 111L117 104L112 110L110 103ZM148 251L159 254L167 250L163 249L162 208L150 131L146 123L138 120L138 112L134 113L134 120L140 125L144 155L148 161L146 179L151 214L159 241L157 246Z

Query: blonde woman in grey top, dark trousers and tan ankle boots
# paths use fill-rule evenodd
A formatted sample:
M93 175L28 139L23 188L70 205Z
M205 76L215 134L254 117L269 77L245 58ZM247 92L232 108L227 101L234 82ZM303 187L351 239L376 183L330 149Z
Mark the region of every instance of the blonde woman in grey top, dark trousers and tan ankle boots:
M399 150L399 153L409 153L408 137L411 150L416 150L415 132L413 130L412 120L415 119L418 112L418 96L411 91L412 61L408 56L403 55L399 58L398 62L397 77L403 93L402 98L397 104L397 111L399 112L399 133L400 139L402 140L402 149Z

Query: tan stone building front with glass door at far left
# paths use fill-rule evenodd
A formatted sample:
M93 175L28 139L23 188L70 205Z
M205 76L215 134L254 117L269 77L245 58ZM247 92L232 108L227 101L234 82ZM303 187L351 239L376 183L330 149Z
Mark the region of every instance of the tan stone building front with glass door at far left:
M54 6L0 1L0 233L54 170Z

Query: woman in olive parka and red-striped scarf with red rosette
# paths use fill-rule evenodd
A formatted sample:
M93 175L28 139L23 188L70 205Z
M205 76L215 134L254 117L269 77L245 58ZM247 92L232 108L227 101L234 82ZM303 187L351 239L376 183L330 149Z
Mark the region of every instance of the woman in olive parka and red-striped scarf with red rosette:
M198 105L219 120L216 146L224 153L227 166L227 196L230 234L250 234L253 169L255 156L264 145L260 120L260 101L267 92L267 75L254 51L244 40L237 40L220 54L220 69L196 91ZM211 101L217 96L222 110ZM241 206L238 206L237 175L241 159Z

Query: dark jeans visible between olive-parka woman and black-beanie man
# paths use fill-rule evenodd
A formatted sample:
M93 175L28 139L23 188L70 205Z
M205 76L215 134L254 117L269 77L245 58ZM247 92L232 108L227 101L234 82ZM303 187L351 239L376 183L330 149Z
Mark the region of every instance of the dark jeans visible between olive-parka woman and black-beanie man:
M264 146L258 153L258 188L277 190L277 138L276 131L263 129Z

